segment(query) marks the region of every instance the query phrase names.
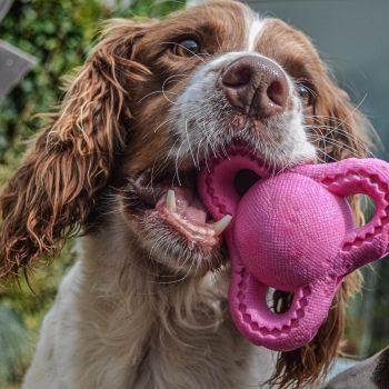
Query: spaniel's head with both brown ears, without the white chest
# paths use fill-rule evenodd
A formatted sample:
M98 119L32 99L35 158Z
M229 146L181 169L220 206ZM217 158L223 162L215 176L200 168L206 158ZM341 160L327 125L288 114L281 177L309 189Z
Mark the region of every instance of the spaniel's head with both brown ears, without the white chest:
M144 260L200 277L225 262L226 226L207 219L199 167L237 142L275 170L361 157L360 123L309 39L278 19L212 1L160 21L113 20L2 193L0 273L116 218L117 239L130 236ZM282 383L332 360L342 293L316 340L281 357Z

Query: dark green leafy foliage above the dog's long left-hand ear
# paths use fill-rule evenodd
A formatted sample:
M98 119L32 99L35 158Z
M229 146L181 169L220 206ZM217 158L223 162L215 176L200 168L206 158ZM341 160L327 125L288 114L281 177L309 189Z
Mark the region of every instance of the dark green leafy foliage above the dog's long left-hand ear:
M111 12L101 0L16 0L0 24L0 38L38 58L38 64L1 104L0 152L33 134L33 113L54 108L61 77L81 64L102 20L110 17L157 17L183 6L184 0L134 0ZM19 150L20 151L20 150ZM3 156L3 160L7 157Z

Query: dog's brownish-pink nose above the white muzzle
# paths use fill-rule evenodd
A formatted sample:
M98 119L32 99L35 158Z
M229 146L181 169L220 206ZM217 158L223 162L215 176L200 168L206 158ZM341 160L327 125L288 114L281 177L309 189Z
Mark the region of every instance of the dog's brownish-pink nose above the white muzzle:
M221 76L221 88L232 107L258 118L282 112L289 94L282 69L267 58L255 56L230 63Z

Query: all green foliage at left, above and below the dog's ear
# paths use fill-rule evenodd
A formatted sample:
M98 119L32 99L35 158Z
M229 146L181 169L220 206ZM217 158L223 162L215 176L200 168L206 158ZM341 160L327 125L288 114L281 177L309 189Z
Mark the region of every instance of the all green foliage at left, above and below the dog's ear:
M36 113L50 112L61 99L61 79L80 66L93 46L99 26L110 17L159 17L184 0L134 0L111 11L101 0L14 0L0 24L0 39L37 57L38 63L0 108L0 184L20 163L27 139L39 129ZM52 305L57 286L73 261L72 242L50 266L41 265L30 286L0 289L0 387L18 386L29 365L40 322ZM44 269L43 269L44 268ZM27 341L28 340L28 341Z

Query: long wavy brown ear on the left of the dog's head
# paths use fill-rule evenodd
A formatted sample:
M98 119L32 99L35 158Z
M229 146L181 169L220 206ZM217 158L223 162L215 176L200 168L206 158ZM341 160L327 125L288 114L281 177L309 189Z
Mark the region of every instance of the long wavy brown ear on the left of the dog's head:
M129 79L147 71L131 58L149 23L112 20L69 83L58 113L1 194L0 277L17 273L82 228L123 149Z

